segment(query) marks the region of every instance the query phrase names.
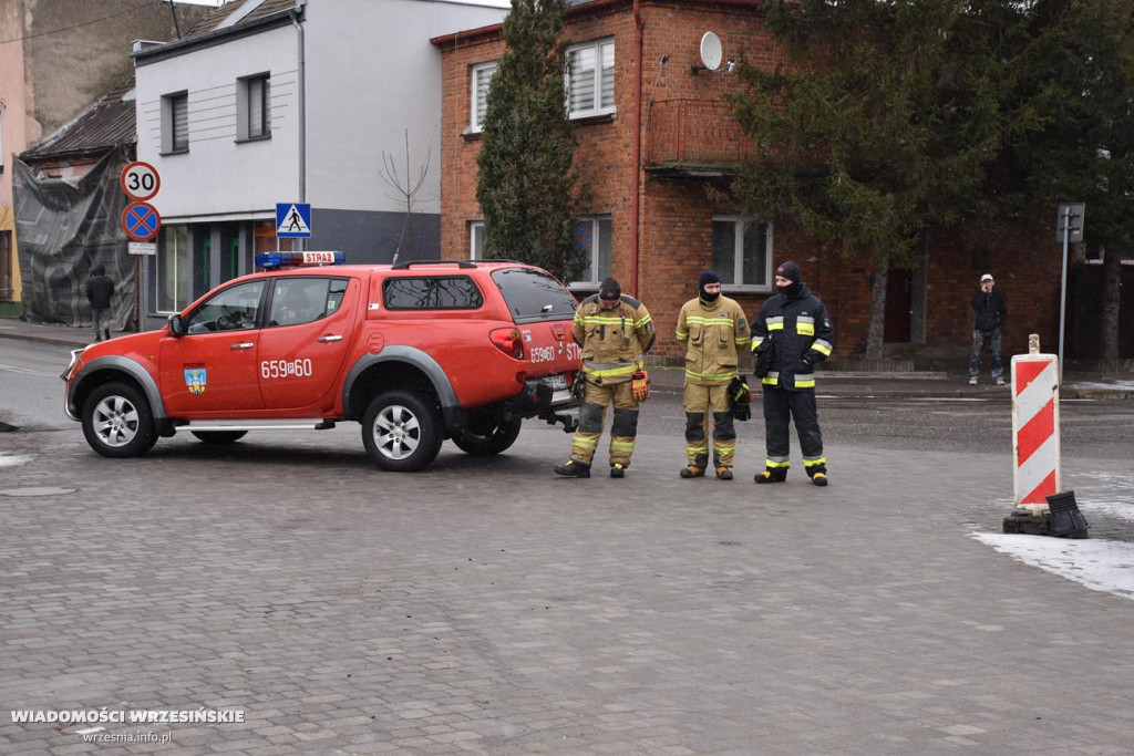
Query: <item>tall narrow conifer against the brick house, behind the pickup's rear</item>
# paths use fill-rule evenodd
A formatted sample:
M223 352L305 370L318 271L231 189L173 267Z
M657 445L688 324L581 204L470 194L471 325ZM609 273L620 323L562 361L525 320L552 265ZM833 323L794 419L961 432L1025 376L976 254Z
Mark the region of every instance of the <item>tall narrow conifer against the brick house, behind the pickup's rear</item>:
M561 40L567 0L511 0L507 49L489 84L476 199L484 256L576 278L575 131L567 118Z

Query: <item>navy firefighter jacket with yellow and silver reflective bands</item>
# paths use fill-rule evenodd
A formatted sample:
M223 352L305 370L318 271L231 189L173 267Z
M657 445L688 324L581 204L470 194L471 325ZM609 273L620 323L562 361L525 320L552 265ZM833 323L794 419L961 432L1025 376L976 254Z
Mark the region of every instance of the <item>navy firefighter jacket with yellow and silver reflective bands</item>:
M752 320L752 349L771 338L775 356L764 385L788 391L815 388L815 365L831 356L835 331L827 307L802 283L764 301ZM804 362L806 360L806 362Z

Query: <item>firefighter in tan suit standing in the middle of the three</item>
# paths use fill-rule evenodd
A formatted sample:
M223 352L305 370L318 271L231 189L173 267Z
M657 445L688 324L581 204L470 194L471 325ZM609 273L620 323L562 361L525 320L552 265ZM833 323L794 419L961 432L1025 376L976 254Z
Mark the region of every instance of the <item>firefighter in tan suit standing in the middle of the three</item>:
M736 427L728 385L737 375L741 352L752 341L744 309L720 294L720 278L705 271L697 297L677 316L677 342L685 347L685 455L683 478L702 477L709 467L709 413L712 413L713 468L733 479Z

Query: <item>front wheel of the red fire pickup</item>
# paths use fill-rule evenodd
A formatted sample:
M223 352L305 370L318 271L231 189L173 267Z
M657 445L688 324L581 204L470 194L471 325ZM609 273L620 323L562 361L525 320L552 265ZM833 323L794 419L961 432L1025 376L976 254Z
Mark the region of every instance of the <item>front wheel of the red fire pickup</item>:
M150 402L128 383L105 383L83 402L83 435L103 457L141 457L158 441Z

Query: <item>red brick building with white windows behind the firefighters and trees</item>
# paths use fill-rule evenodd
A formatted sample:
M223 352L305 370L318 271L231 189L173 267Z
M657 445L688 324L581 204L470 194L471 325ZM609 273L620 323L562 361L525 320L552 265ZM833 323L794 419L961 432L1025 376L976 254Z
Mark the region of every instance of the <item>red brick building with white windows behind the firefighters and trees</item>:
M714 70L704 67L701 53L709 32L720 42ZM744 57L771 69L785 56L764 28L759 2L590 0L572 6L565 36L568 110L578 130L575 160L593 196L578 231L592 264L573 290L585 296L613 275L653 314L653 354L676 358L677 312L696 295L702 270L716 270L725 292L754 314L772 291L775 265L794 260L831 312L836 355L861 354L870 271L782 223L742 218L713 198L752 147L721 99L738 86L733 63ZM479 119L503 41L497 25L432 42L443 61L441 249L446 258L475 257L483 228ZM1008 297L1005 351L1026 351L1027 334L1036 332L1053 351L1059 255L1050 238L1038 245L982 240L979 247L931 240L919 270L891 271L886 341L967 345L968 299L980 274L991 271Z

